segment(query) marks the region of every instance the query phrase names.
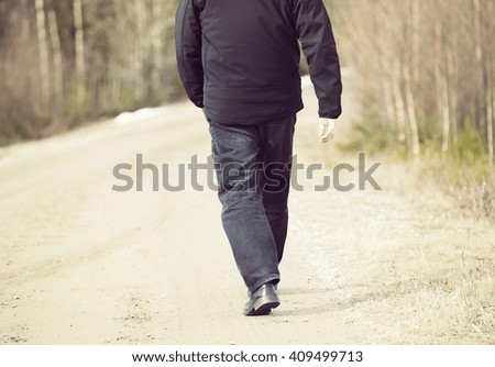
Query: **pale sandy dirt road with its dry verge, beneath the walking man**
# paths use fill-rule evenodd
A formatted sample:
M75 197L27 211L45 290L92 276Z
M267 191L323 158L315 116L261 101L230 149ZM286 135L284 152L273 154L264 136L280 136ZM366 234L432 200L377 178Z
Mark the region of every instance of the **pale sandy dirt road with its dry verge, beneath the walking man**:
M336 162L337 148L317 141L316 103L310 90L306 94L296 135L299 162ZM344 108L350 103L345 99ZM435 188L400 178L404 170L386 162L378 173L383 191L316 192L314 180L300 180L305 190L290 197L282 305L270 316L244 318L245 289L216 192L194 190L190 179L184 191L154 192L151 175L143 192L112 191L122 184L113 167L135 167L138 154L158 167L168 164L175 184L177 165L194 155L206 162L209 149L207 124L188 103L1 149L2 342L494 341L493 319L477 334L469 322L458 327L448 312L457 299L446 296L435 304L428 296L443 294L436 281L447 281L461 253L464 264L479 266L476 258L484 258L493 266L493 229L462 216ZM345 159L356 165L358 156ZM446 246L454 263L442 260ZM491 278L483 279L488 289Z

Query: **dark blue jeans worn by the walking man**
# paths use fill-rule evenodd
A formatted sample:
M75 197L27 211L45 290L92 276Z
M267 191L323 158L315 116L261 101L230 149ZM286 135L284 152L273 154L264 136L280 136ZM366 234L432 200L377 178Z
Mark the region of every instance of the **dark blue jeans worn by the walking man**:
M210 122L222 224L250 291L280 279L296 116L263 124Z

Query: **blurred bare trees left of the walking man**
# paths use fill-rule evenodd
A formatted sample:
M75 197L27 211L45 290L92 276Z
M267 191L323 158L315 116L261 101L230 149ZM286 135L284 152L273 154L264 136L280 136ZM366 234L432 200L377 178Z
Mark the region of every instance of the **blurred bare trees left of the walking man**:
M0 145L178 93L177 0L0 0Z

